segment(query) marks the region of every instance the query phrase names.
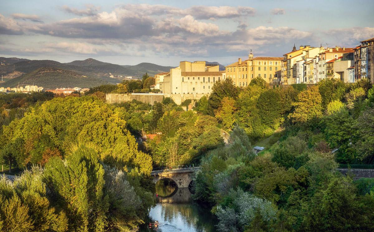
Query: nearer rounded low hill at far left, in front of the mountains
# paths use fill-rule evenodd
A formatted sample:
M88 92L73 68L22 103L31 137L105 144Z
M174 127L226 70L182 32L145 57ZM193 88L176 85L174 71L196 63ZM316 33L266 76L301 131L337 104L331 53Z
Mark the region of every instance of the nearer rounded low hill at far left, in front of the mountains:
M55 89L60 87L81 87L89 88L95 87L102 84L108 84L107 81L103 81L94 77L85 77L77 72L72 72L60 68L38 68L32 72L21 75L1 83L0 86L4 87L15 87L35 84L42 86L45 89Z

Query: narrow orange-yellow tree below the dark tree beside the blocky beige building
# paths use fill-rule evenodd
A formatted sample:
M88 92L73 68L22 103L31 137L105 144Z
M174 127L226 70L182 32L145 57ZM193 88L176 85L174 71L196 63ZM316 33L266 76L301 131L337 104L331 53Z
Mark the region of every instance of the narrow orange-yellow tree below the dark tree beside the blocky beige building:
M220 108L215 111L215 117L221 121L222 125L227 129L232 129L235 122L234 112L236 110L235 100L232 98L224 97L221 102Z

